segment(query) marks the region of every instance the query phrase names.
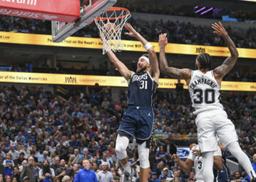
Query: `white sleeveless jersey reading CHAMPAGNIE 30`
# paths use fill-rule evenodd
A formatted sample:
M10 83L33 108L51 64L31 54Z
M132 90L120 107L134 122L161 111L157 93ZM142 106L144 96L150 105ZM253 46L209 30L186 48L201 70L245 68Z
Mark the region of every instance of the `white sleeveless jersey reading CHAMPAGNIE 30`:
M194 114L201 111L208 111L212 108L223 109L219 102L220 86L214 77L214 71L207 71L203 74L200 70L192 71L189 82L189 95L192 106L195 108Z

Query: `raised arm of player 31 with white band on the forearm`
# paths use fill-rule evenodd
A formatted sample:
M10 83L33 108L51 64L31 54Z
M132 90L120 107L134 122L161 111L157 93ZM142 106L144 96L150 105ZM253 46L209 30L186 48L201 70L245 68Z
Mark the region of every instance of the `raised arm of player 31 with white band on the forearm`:
M148 43L148 41L143 36L140 35L140 33L135 31L135 29L132 28L132 25L130 25L129 23L126 23L124 25L124 28L126 28L127 31L129 31L125 34L127 34L128 36L136 37L136 39L138 39L143 44L145 49L148 51L149 63L151 65L149 72L151 76L155 79L155 81L158 82L160 71L159 71L159 63L157 60L157 54L154 51L154 47L152 47L151 44Z

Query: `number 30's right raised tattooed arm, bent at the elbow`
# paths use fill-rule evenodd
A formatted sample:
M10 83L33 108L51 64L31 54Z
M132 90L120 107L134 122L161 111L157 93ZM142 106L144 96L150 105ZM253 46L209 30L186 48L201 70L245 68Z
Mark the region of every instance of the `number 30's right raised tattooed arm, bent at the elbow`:
M234 67L236 60L238 59L238 51L236 50L236 45L234 44L233 40L230 39L230 36L228 36L227 31L223 27L222 23L214 23L212 24L211 28L214 29L214 33L222 36L231 54L230 57L228 57L224 63L222 63L222 66L214 69L215 78L222 80L222 78Z

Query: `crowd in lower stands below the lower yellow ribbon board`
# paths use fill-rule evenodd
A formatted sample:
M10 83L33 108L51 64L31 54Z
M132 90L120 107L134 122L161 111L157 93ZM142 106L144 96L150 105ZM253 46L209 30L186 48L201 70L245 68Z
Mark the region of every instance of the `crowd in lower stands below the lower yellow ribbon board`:
M95 85L88 90L75 87L60 96L42 86L0 86L0 181L72 181L83 168L83 159L89 159L99 181L102 170L108 171L110 180L120 181L122 167L115 144L116 130L127 108L126 92L121 90L118 98L112 98L110 87ZM177 146L197 141L195 116L186 95L176 104L175 92L157 92L149 181L195 181L193 170L181 170L170 158ZM225 92L222 99L236 124L241 147L252 159L256 151L256 95ZM137 151L135 142L130 143L127 154L134 171L132 181L138 181ZM34 173L27 176L30 166L34 166ZM238 175L232 173L232 178ZM245 178L244 172L239 178Z

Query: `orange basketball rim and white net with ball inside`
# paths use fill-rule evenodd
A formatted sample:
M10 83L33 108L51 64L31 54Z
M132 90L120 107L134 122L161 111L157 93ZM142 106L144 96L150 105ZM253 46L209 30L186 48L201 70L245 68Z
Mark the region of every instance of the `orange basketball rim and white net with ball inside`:
M121 31L129 17L131 17L131 14L128 9L123 7L110 7L110 9L103 12L102 15L94 19L102 37L103 55L108 52L108 50L112 50L113 52L123 50Z

